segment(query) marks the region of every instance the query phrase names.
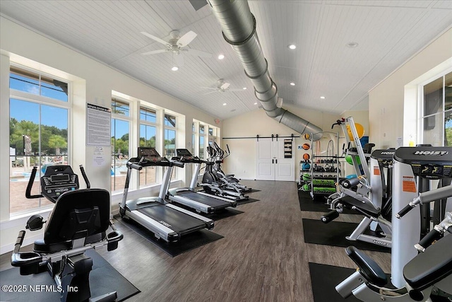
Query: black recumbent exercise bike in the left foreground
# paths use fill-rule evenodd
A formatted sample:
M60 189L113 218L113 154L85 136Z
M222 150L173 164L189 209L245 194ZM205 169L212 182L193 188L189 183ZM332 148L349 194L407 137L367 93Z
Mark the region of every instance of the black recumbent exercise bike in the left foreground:
M115 250L124 237L114 227L110 216L110 195L107 190L91 189L85 170L80 166L86 189L79 189L78 175L70 165L50 165L40 179L42 194L32 195L37 167L33 167L25 196L46 197L55 206L49 214L44 238L36 240L32 252L20 252L25 231L16 240L11 265L20 267L20 274L38 274L47 270L59 289L61 301L115 301L117 292L90 298L89 275L93 260L84 252L102 245ZM40 230L42 216L33 215L25 228ZM112 232L106 233L108 228ZM73 289L73 290L71 290Z

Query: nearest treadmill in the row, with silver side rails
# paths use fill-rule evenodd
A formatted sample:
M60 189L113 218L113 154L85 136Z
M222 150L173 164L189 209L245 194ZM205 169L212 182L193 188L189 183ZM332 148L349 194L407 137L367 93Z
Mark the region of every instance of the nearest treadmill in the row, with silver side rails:
M156 238L162 238L167 243L176 243L182 236L195 231L213 228L213 220L169 204L165 201L165 194L171 178L172 167L177 165L184 167L184 163L172 162L160 156L154 149L138 147L138 157L127 161L126 185L124 195L119 208L121 218L129 218L140 223L155 234ZM162 185L158 197L141 197L127 200L129 181L132 170L141 170L143 167L162 166L167 167L163 176Z

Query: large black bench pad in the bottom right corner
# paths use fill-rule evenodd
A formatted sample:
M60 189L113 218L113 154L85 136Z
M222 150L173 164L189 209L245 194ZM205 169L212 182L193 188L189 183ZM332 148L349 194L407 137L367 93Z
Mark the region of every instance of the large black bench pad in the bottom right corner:
M403 268L403 277L422 291L452 273L452 235L444 236Z

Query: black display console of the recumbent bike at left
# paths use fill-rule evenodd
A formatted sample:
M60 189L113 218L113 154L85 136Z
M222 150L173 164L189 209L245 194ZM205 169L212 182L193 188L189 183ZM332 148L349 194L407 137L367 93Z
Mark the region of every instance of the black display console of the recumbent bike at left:
M56 202L64 192L77 190L78 176L70 165L49 165L41 178L41 192L44 197Z

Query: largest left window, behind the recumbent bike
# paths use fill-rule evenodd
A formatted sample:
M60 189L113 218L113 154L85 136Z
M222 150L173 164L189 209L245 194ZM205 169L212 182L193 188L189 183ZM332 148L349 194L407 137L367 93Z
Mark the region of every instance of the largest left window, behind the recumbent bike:
M10 69L10 214L49 207L45 198L26 199L33 166L32 194L49 165L69 163L69 84L37 71Z

